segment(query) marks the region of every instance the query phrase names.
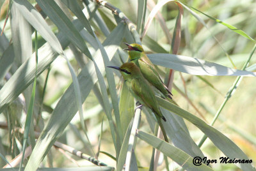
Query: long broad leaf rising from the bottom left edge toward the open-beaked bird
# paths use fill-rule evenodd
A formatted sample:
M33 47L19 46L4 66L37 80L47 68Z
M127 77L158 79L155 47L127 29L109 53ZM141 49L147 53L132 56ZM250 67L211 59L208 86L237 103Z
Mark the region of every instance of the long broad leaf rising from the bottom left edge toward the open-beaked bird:
M105 40L106 42L108 42L107 45L104 45L104 48L108 54L109 60L111 60L113 55L115 54L115 51L117 50L117 47L122 40L122 34L124 33L120 31L118 32L118 34L115 34L115 39L113 39L113 36L109 36L108 38L110 38L111 40L109 40L108 38ZM93 61L95 64L93 64ZM98 69L98 73L102 73L105 69L100 53L95 54L95 57L93 57L93 61L90 61L88 64L86 64L83 70L81 70L81 73L79 73L79 75L77 76L81 88L82 101L86 99L86 97L92 90L93 85L98 80L96 70ZM60 137L67 124L70 123L71 119L77 112L77 105L74 99L74 85L71 84L56 105L56 108L54 109L51 118L49 119L49 122L45 126L44 131L42 131L40 137L38 138L35 149L33 150L31 157L29 158L25 170L35 170L35 168L38 167L49 149L51 149L53 143L56 141L56 138ZM111 121L109 122L109 125L113 125ZM111 128L111 131L113 131L113 128ZM113 142L115 143L115 137L113 137L113 139Z

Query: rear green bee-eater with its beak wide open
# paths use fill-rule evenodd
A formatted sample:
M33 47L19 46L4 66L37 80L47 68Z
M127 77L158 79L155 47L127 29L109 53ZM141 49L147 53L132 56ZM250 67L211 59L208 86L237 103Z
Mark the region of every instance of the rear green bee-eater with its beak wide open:
M164 85L156 71L154 64L152 64L148 59L141 45L137 43L132 43L131 45L125 43L125 45L128 47L125 50L129 51L128 54L131 62L140 68L141 73L148 80L148 82L156 87L156 89L158 89L164 95L164 98L170 98L172 100L172 93L168 90L166 85Z

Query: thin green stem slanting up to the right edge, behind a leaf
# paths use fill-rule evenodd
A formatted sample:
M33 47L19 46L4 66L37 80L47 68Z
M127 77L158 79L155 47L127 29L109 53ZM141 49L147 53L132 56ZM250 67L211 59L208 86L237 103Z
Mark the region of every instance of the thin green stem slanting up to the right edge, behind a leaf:
M247 61L244 63L244 66L243 66L243 68L242 68L241 70L245 70L246 66L248 66L248 64L249 64L249 62L250 62L250 60L251 60L251 58L252 58L252 55L253 55L253 53L255 52L255 50L256 50L256 44L254 45L253 50L252 50L250 56L248 57ZM239 84L239 82L241 82L241 79L242 79L242 78L243 78L243 77L238 76L238 77L236 78L236 80L234 81L234 84L232 85L232 87L230 87L228 93L227 93L226 96L225 96L225 100L222 102L220 108L219 108L218 111L216 112L216 114L215 114L215 116L214 116L214 118L213 118L213 120L212 120L212 122L211 122L211 124L210 124L211 126L212 126L212 125L215 123L215 121L218 119L218 117L219 117L219 115L220 115L220 112L221 112L222 109L225 107L227 101L231 98L232 94L235 93L236 88L237 88L237 85ZM202 139L200 140L200 142L199 142L199 144L198 144L198 147L202 147L202 145L204 144L204 142L205 142L206 139L207 139L207 136L204 135L204 137L202 137Z

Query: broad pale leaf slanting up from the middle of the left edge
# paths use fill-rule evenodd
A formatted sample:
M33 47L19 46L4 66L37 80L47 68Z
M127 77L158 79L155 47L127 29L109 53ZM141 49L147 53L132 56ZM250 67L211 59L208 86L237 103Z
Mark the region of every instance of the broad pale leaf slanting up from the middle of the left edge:
M95 8L95 6L92 6ZM83 29L83 26L80 22L74 21L74 25L77 27L77 30ZM66 48L70 41L67 39L67 36L63 32L58 34L58 38L61 42L61 46ZM37 75L40 75L42 71L49 67L49 65L56 59L58 54L56 50L52 50L50 43L45 43L42 47L38 49L38 72ZM33 54L32 56L35 56ZM19 96L26 87L28 87L33 78L35 77L35 59L29 58L25 63L23 63L19 69L12 75L10 80L4 84L4 87L0 90L0 112L3 111L3 108L13 101L17 96Z

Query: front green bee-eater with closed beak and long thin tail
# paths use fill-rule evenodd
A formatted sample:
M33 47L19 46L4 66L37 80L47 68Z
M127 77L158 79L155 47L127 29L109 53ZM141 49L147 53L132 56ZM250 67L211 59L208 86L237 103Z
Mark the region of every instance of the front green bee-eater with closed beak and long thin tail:
M124 63L122 66L108 66L109 68L115 68L119 70L124 78L124 82L127 85L129 91L142 105L150 108L156 115L157 123L159 124L164 140L168 142L164 126L161 122L161 118L166 121L165 117L161 113L157 104L154 91L148 81L143 77L140 68L134 63Z

